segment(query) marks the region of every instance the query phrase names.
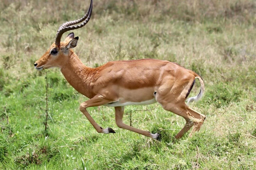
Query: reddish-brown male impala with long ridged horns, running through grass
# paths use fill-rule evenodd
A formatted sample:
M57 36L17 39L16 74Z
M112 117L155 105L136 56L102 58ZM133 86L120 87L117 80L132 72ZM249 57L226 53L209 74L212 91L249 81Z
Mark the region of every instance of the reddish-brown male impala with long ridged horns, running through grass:
M158 133L140 130L122 122L124 106L149 105L158 102L165 110L182 116L186 120L184 128L175 136L180 138L193 125L190 135L198 131L205 116L185 104L195 78L201 84L200 93L188 99L188 103L199 100L204 92L204 82L195 72L180 65L157 59L131 61L111 61L97 68L85 66L73 49L78 37L70 33L63 42L63 33L81 28L87 24L92 14L92 0L83 18L62 24L57 32L55 43L35 62L37 70L59 67L62 74L79 93L89 100L81 103L80 111L99 133L115 133L112 128L100 127L89 115L86 108L95 106L115 107L115 120L119 128L128 129L157 139ZM81 23L82 22L82 23ZM81 23L74 26L75 24Z

